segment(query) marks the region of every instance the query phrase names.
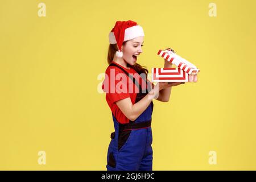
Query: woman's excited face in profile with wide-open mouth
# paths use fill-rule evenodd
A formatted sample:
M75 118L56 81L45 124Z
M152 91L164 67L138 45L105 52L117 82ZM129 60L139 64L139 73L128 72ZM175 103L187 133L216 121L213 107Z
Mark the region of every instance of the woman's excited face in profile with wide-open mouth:
M130 65L134 65L137 61L138 55L142 53L142 46L144 37L140 36L126 42L123 48L123 59Z

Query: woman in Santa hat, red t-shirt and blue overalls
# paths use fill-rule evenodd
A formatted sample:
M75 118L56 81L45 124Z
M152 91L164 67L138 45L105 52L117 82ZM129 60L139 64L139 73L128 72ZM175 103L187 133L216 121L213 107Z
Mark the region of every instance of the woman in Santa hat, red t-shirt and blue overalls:
M109 67L102 84L115 128L107 155L109 171L152 170L152 100L168 102L171 86L181 84L154 86L147 80L147 69L136 63L143 39L143 28L131 20L117 21L109 33ZM171 66L165 60L164 67Z

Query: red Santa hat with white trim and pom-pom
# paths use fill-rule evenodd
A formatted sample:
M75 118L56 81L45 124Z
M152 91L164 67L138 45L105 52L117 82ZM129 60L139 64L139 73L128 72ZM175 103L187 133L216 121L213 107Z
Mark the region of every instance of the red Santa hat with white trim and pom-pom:
M115 52L117 57L122 57L122 44L126 40L131 40L138 38L139 36L144 36L143 28L139 26L136 22L131 20L128 21L117 21L115 22L114 28L109 33L109 43L117 44L118 51Z

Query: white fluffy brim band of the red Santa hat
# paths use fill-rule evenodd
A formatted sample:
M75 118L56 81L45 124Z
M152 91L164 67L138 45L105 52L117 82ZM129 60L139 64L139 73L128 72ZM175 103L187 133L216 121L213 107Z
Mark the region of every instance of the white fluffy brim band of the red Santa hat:
M129 27L125 29L125 38L123 41L131 40L134 38L138 38L139 36L144 36L143 28L139 25ZM114 32L109 32L109 43L116 44L117 41L115 40Z

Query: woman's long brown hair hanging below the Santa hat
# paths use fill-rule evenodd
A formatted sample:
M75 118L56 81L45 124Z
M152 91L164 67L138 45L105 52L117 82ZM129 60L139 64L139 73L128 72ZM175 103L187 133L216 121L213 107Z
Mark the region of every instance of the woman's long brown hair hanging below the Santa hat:
M123 46L125 46L127 41L123 42ZM118 51L118 48L117 48L117 44L109 44L109 51L108 51L108 64L111 64L113 59L114 59L114 55L115 55L115 52ZM146 67L142 67L140 64L138 63L135 63L134 65L130 65L127 63L127 67L130 67L130 68L133 68L139 75L141 73L144 73L146 75L146 78L147 78L147 73L148 73L148 70L146 69Z

